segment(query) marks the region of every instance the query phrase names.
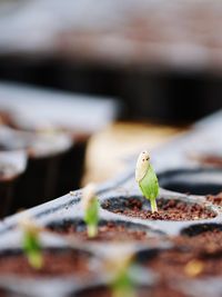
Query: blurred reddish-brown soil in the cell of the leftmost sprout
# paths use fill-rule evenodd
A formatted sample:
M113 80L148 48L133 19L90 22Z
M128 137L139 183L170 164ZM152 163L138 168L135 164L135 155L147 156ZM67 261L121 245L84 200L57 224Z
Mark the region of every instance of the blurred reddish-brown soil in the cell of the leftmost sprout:
M89 256L74 250L43 251L43 267L33 269L22 254L0 256L0 276L58 277L65 275L83 276L90 274Z

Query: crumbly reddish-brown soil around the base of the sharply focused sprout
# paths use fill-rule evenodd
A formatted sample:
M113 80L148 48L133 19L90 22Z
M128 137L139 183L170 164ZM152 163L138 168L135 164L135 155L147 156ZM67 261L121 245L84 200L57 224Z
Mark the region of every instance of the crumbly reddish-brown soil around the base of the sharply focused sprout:
M110 208L111 200L103 207ZM213 218L216 214L199 204L188 204L175 199L158 199L158 212L151 212L143 209L143 202L137 198L124 199L122 209L113 208L115 214L122 214L129 217L139 217L151 220L198 220Z

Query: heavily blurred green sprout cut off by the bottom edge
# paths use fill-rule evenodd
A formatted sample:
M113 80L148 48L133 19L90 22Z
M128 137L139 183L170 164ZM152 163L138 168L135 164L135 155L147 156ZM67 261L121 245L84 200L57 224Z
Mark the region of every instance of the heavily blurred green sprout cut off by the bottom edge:
M130 274L132 267L132 255L115 257L109 269L114 274L110 284L112 297L135 297L134 284Z

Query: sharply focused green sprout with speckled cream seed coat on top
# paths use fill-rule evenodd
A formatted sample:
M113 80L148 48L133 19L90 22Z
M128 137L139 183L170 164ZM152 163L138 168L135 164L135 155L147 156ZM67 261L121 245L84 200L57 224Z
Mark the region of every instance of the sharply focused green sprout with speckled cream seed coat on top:
M158 211L155 198L159 194L157 175L150 164L148 151L142 151L138 158L135 180L145 198L150 200L152 212Z

